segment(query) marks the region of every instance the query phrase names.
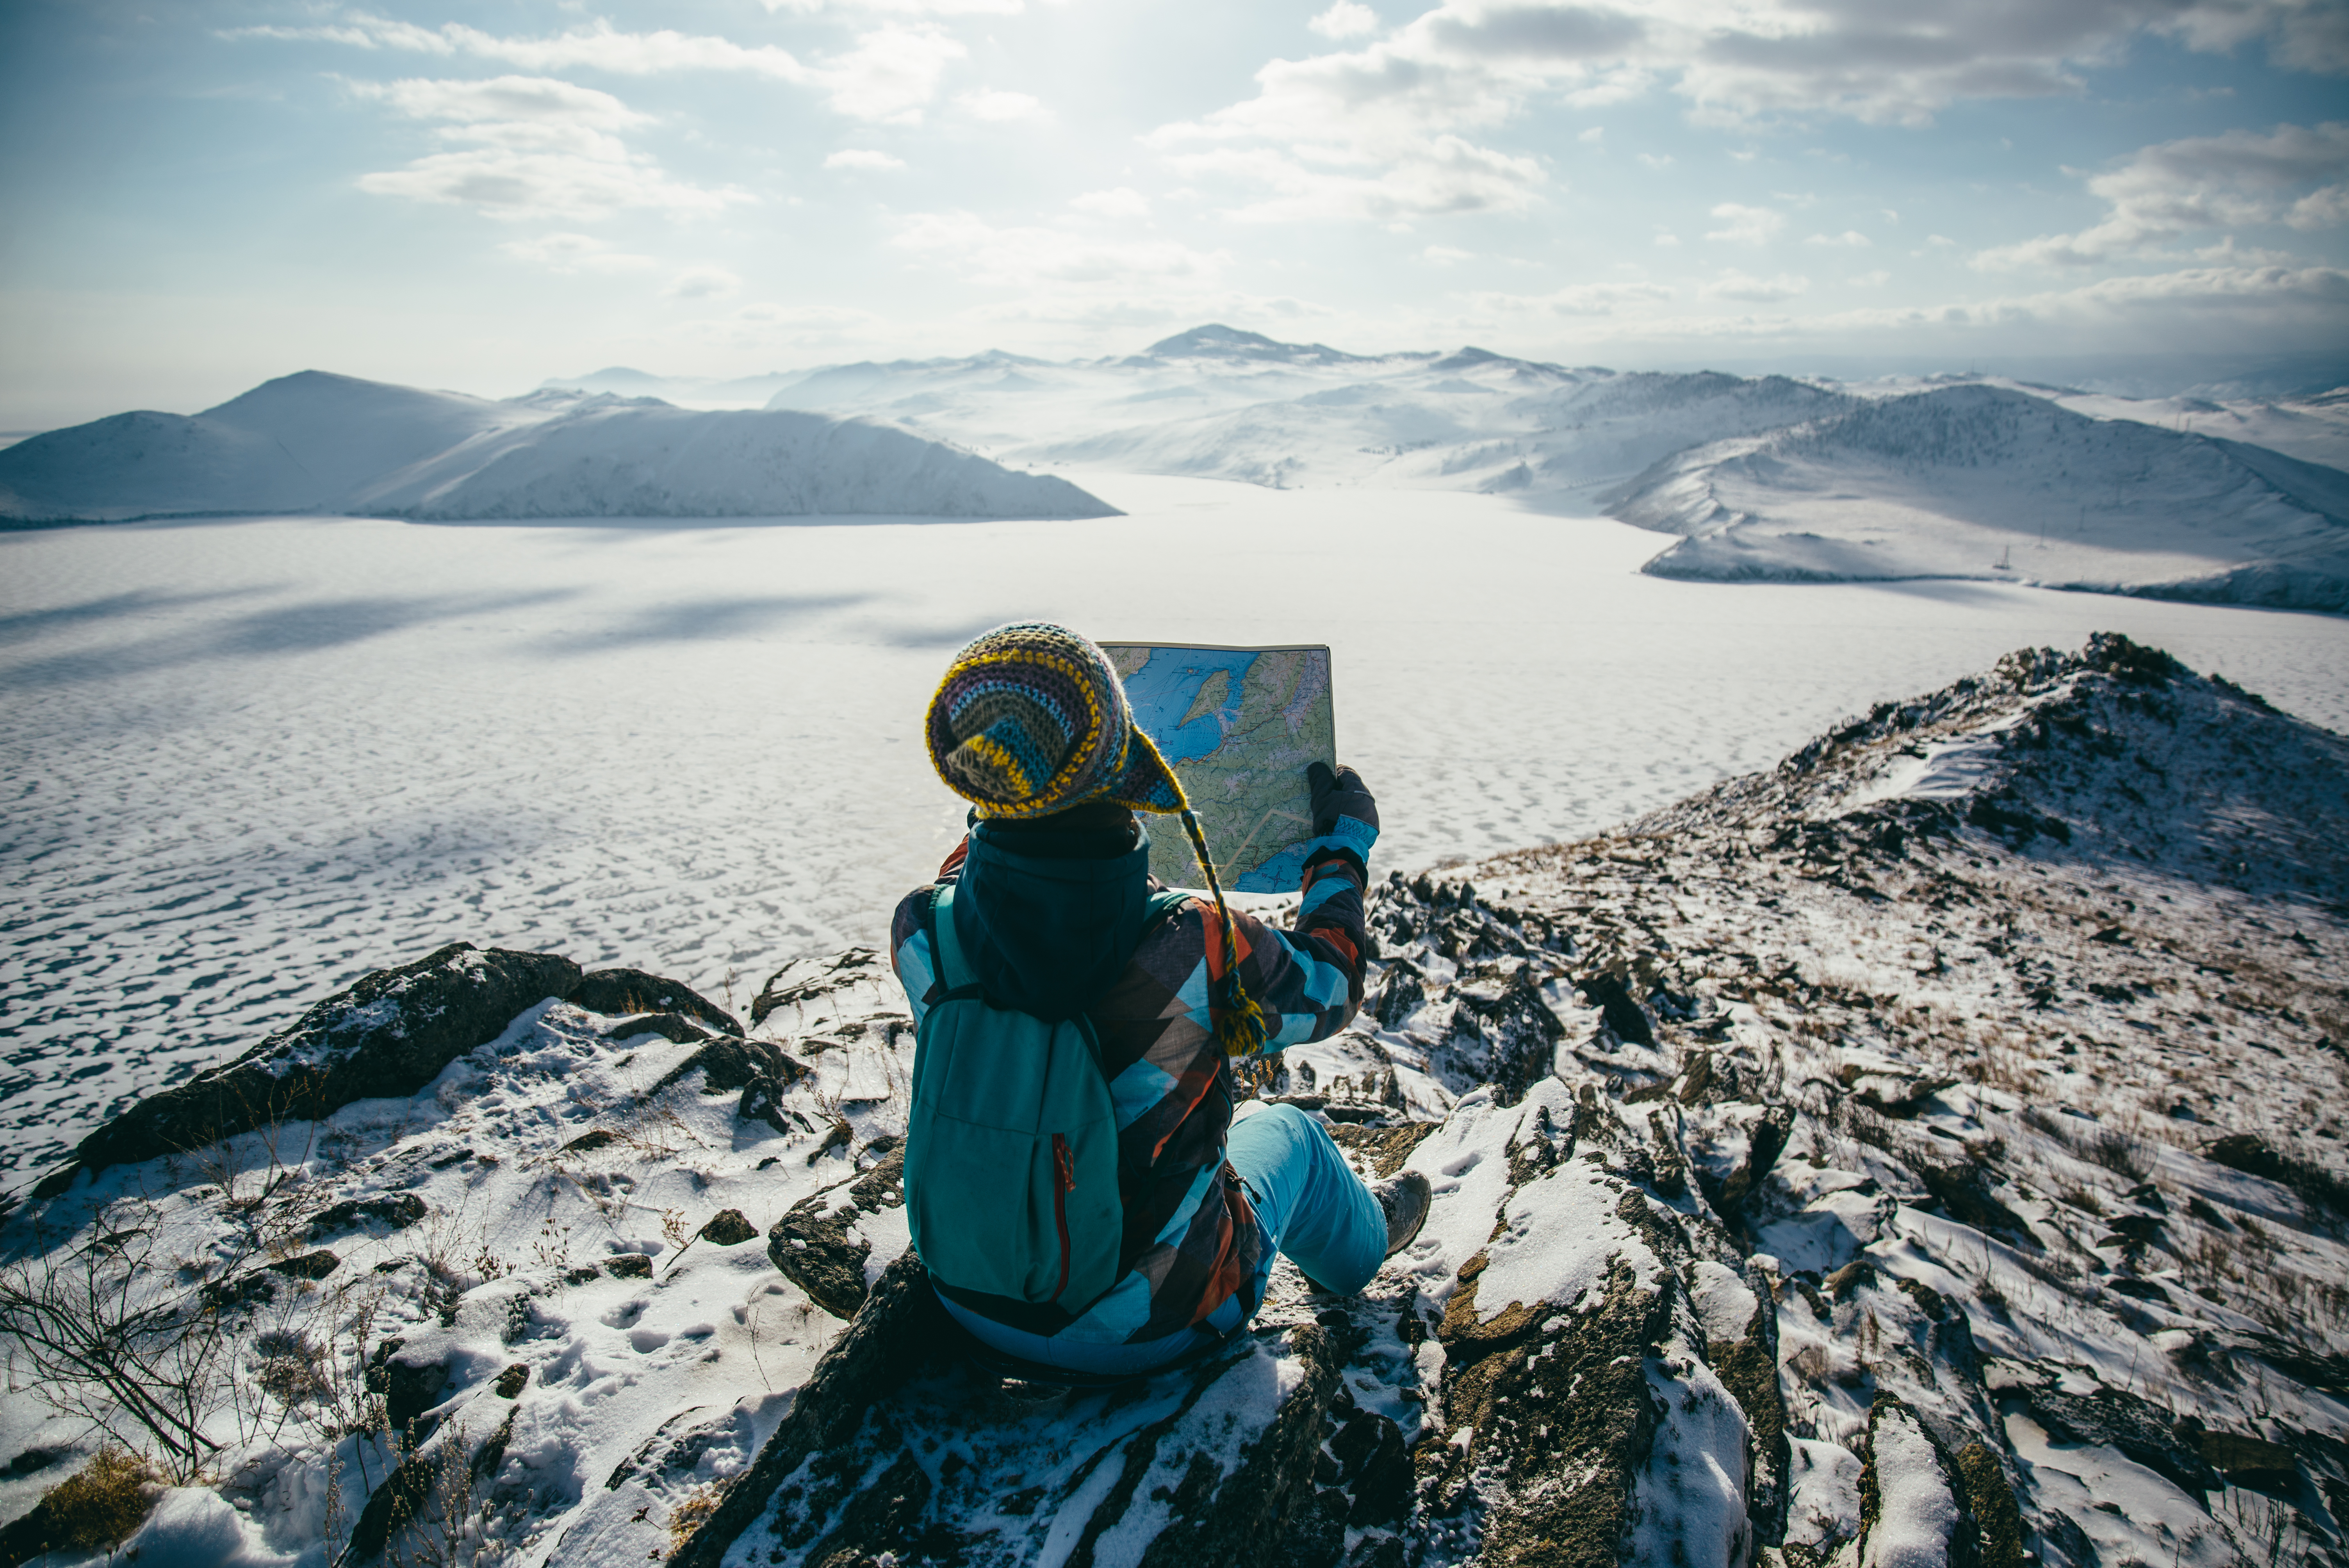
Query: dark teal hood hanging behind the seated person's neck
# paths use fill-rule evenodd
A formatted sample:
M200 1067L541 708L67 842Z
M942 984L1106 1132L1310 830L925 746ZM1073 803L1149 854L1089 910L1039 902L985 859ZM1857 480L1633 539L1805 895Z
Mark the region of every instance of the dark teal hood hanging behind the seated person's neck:
M991 1005L1059 1023L1102 1000L1142 944L1151 838L1085 859L1022 854L1017 843L972 826L954 934Z

